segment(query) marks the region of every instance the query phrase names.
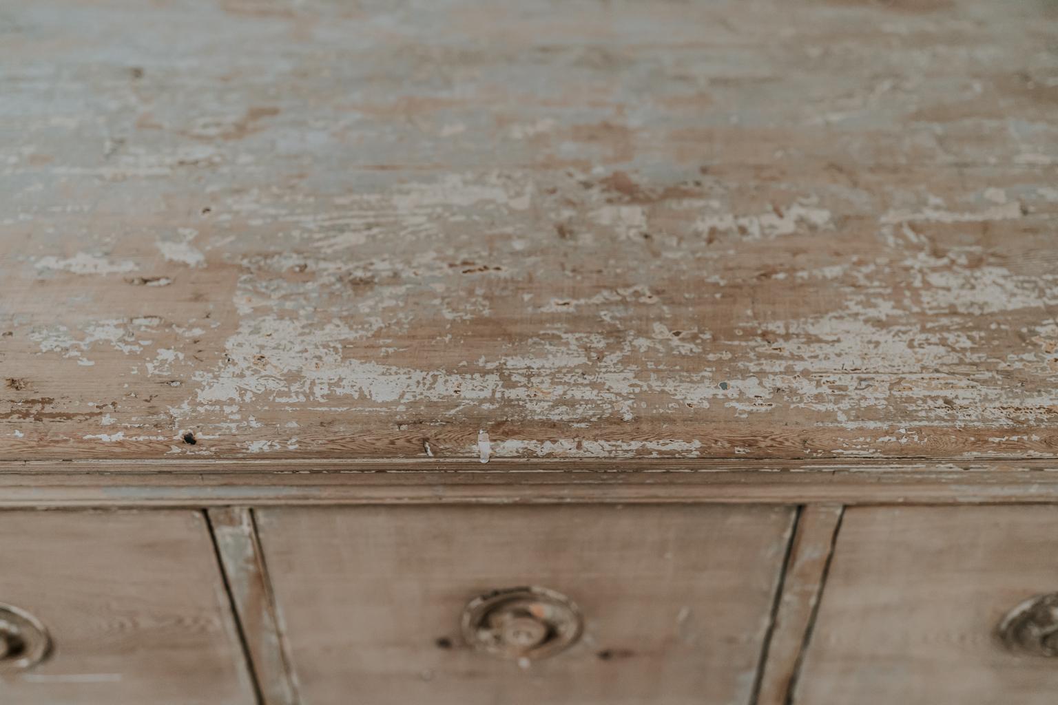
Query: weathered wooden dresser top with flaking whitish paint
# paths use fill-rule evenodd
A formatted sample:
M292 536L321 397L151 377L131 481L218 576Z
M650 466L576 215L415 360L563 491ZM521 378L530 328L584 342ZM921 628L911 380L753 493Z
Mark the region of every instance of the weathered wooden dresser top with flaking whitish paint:
M0 460L1058 457L1048 0L0 6Z

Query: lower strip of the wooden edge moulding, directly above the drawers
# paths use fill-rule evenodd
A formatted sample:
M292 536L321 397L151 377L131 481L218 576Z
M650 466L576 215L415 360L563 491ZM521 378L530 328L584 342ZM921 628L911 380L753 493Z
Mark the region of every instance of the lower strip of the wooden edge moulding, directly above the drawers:
M1045 470L0 475L0 507L1058 502Z

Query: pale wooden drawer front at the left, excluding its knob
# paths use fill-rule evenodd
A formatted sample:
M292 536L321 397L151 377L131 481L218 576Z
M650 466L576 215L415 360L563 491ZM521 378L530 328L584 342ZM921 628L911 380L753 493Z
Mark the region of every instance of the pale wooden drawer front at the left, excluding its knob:
M0 602L13 608L0 625L26 615L51 641L42 662L22 667L39 632L0 626L0 701L254 702L201 514L6 512L0 536Z

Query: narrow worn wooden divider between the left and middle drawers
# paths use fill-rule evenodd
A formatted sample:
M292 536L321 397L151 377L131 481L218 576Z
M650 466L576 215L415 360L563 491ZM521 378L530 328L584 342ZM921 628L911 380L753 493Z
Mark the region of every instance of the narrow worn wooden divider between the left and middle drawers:
M247 507L220 506L206 516L259 702L297 705L253 514Z

